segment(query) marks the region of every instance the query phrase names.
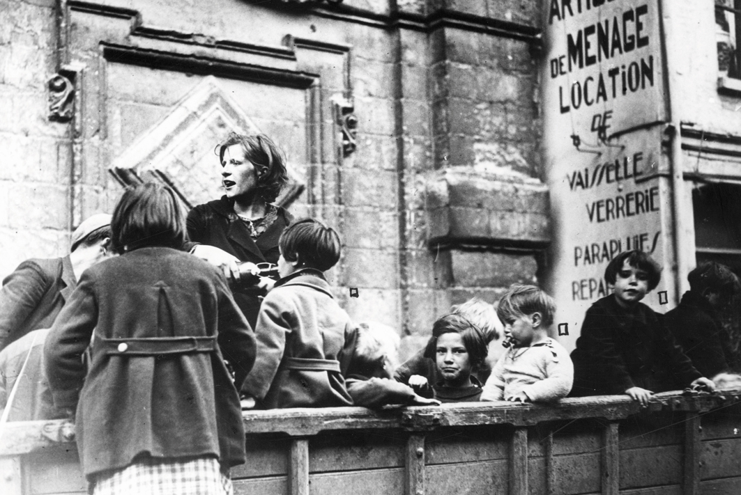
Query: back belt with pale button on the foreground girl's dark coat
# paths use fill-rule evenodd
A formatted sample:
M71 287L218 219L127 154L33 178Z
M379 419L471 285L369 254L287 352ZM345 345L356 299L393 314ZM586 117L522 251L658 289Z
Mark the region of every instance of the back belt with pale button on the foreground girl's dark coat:
M107 339L97 337L93 347L105 354L116 356L159 356L160 354L187 354L213 352L216 337L145 337Z

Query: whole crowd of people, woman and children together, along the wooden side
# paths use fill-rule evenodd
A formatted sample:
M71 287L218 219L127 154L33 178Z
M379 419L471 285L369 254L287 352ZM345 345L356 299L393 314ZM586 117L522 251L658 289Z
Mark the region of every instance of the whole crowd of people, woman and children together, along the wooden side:
M113 215L81 223L70 255L27 260L4 280L0 425L72 417L91 493L231 493L245 408L598 394L647 405L659 391L712 390L735 366L722 312L737 277L698 266L679 306L657 314L641 300L661 270L641 251L608 264L614 292L588 309L571 356L550 337L553 298L516 284L496 305L453 306L395 366L393 331L353 323L324 275L339 236L273 203L287 181L278 147L232 134L216 154L219 200L186 218L167 186L131 187ZM501 326L507 350L492 367Z

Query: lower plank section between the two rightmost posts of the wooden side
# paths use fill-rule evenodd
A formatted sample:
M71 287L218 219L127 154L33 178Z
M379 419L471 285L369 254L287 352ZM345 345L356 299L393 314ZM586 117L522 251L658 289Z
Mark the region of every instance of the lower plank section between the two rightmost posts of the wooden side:
M682 483L682 445L620 450L620 487L639 488Z

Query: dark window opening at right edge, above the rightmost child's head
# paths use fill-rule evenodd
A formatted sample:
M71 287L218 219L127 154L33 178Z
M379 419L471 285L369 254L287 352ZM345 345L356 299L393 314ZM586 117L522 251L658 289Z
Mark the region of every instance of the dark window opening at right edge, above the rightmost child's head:
M717 261L741 275L741 186L711 183L692 192L697 263Z

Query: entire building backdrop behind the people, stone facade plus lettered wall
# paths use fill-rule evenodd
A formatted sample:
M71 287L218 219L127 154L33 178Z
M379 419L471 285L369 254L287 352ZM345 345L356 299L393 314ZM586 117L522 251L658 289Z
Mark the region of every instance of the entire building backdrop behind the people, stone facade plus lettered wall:
M1 0L0 273L127 183L219 197L216 144L264 132L280 201L342 236L354 319L416 348L451 304L539 282L573 346L621 250L665 267L661 312L697 260L741 268L737 7Z

